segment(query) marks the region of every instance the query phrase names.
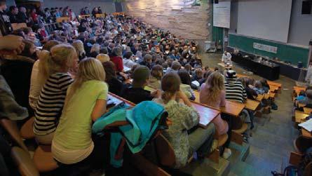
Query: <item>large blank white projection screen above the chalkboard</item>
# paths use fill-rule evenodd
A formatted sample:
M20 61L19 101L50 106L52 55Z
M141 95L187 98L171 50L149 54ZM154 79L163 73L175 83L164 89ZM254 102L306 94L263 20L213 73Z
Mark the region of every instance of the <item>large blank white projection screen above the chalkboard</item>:
M238 0L237 33L287 43L292 0Z

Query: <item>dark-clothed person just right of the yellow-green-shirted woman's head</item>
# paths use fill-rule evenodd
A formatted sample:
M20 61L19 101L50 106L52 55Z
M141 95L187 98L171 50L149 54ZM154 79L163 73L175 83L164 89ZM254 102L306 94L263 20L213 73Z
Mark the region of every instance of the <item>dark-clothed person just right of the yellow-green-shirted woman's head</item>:
M123 83L117 79L116 69L113 62L102 62L102 65L106 74L106 82L109 85L109 92L114 93L116 95L121 95L121 91L124 86Z

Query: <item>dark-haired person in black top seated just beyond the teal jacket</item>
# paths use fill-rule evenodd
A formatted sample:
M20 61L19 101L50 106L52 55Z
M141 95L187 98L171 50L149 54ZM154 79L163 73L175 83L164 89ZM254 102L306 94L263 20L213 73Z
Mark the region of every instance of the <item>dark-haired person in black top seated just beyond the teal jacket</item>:
M154 97L158 97L160 91L155 90L154 92L150 92L144 90L144 87L149 83L149 76L150 71L148 67L142 65L137 67L131 75L133 78L132 86L123 90L121 97L135 104L143 101L151 101Z

